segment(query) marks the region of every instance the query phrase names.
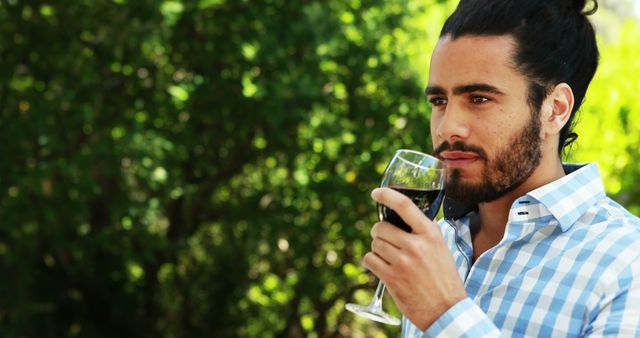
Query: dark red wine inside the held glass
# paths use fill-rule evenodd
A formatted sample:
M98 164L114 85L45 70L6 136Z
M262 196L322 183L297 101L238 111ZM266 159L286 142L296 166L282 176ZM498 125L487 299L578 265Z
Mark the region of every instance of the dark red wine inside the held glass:
M409 197L429 219L436 218L438 209L444 197L443 190L422 190L413 188L389 187ZM378 203L380 219L385 220L398 228L411 232L411 227L393 209Z

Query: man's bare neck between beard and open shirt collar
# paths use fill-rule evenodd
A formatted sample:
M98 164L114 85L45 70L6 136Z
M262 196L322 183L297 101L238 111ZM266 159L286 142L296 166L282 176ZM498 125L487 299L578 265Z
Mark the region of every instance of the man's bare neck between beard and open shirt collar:
M543 185L551 183L565 175L562 169L562 162L541 163L522 184L504 196L478 205L477 232L473 235L473 256L474 261L486 250L494 247L502 240L509 210L513 202Z

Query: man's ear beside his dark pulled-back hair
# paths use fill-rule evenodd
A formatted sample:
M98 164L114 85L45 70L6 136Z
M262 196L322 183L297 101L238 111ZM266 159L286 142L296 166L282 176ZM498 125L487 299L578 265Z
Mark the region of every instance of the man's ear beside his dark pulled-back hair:
M566 83L560 83L542 104L542 132L544 136L557 135L569 121L574 104L573 91Z

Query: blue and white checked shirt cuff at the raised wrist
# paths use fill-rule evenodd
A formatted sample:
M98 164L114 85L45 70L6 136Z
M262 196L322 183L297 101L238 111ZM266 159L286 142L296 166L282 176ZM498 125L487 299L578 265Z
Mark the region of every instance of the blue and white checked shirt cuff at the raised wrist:
M502 337L502 334L487 315L471 299L466 298L452 306L425 332L403 332L403 337L480 338Z

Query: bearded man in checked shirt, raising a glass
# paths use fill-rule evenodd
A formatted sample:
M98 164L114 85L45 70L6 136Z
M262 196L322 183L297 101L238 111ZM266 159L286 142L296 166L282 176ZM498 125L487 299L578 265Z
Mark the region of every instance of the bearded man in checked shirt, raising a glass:
M640 220L595 164L560 155L598 63L585 0L462 0L426 89L445 219L391 189L411 233L372 228L364 264L405 337L640 337Z

